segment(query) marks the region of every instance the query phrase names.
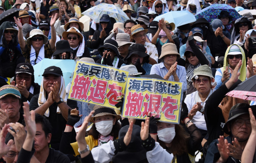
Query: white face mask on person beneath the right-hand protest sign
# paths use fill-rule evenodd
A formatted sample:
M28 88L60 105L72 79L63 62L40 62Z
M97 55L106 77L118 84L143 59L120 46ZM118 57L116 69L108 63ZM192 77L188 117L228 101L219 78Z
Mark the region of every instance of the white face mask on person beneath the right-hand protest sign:
M157 131L158 138L165 143L171 143L175 137L175 127L169 127Z

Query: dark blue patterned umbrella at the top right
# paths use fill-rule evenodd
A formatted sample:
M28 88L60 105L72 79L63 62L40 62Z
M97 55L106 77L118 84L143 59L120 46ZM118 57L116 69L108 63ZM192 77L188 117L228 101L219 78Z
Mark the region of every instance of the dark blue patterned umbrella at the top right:
M232 22L242 17L241 15L238 14L238 12L233 7L229 5L213 4L207 8L202 9L200 12L198 12L195 15L195 18L196 19L205 18L209 23L211 23L213 19L218 19L218 16L221 13L221 11L229 12L229 15L232 16L232 19L231 19Z

